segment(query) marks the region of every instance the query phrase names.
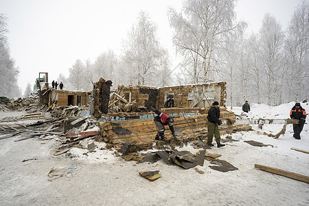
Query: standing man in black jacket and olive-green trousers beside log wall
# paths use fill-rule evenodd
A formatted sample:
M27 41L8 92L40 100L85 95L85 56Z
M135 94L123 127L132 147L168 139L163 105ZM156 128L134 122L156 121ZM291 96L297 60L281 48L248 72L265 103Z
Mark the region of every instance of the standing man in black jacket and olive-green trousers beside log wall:
M212 103L212 106L209 108L208 111L208 122L207 122L207 145L214 146L212 144L212 139L215 136L218 148L225 146L225 144L220 144L220 131L218 125L221 125L220 117L220 108L219 102Z

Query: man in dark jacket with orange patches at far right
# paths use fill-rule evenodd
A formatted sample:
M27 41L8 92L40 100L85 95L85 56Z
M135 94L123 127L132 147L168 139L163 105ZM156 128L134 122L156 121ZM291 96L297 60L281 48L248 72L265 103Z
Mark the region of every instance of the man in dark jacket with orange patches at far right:
M301 107L299 102L295 103L295 106L293 106L293 108L290 110L290 118L299 119L298 124L293 124L293 130L294 130L293 137L295 139L300 139L300 133L304 128L306 117L307 117L306 110Z

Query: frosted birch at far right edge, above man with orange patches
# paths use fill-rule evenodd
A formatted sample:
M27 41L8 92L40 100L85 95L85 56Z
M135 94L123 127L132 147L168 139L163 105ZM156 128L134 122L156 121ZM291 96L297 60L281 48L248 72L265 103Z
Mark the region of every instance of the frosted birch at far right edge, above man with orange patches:
M288 54L288 90L295 101L308 98L309 1L302 1L293 13L285 43Z

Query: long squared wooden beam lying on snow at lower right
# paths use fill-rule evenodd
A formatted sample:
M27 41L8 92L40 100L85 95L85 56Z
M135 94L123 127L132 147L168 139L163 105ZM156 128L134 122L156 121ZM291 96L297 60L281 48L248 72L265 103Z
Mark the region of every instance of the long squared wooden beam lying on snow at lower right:
M279 174L279 175L282 175L282 176L286 176L290 179L296 179L298 181L309 183L309 176L297 174L295 172L288 172L286 170L280 170L280 169L277 169L277 168L272 168L272 167L269 167L269 166L266 166L266 165L254 164L254 167L258 168L260 170L264 170L266 172L271 172L273 174Z

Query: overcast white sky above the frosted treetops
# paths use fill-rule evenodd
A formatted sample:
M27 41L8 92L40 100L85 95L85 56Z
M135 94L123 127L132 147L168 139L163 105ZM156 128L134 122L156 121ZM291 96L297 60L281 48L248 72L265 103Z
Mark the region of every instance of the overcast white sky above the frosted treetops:
M266 12L275 16L285 30L301 0L239 0L238 19L249 23L249 32L258 32ZM80 59L93 62L108 49L121 52L121 42L137 21L141 10L158 26L161 45L174 57L172 30L166 12L169 6L180 11L181 0L0 0L0 12L8 17L11 56L19 67L19 87L34 84L38 72L48 72L49 82ZM174 66L173 66L174 67Z

